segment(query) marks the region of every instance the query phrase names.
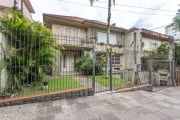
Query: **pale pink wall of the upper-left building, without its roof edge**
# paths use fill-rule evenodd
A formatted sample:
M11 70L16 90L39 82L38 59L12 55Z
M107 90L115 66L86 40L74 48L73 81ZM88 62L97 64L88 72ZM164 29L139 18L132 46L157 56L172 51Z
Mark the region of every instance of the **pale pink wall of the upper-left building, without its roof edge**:
M14 0L0 0L0 6L12 8L13 5L14 5ZM17 7L19 10L21 9L21 1L20 0L17 3ZM23 2L23 13L24 13L25 17L32 20L31 13L29 12L29 10L28 10L27 6L24 4L24 2Z

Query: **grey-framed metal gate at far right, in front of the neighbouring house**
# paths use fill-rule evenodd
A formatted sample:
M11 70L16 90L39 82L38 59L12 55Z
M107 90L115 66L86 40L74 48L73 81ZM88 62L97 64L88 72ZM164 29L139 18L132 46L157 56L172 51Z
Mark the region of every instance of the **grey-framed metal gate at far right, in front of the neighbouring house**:
M153 91L175 86L174 62L170 60L149 60L149 83Z

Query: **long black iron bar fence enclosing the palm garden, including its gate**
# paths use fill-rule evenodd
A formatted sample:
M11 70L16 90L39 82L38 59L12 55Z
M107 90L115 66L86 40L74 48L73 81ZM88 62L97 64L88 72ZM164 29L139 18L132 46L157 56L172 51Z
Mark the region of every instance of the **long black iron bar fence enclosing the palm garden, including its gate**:
M125 56L88 38L35 36L23 30L1 34L0 99L78 88L113 91L134 85Z

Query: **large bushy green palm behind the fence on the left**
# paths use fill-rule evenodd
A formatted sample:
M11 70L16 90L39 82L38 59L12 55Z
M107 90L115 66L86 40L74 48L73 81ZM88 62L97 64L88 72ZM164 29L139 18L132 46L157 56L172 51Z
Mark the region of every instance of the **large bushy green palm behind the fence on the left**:
M8 89L21 90L23 86L42 81L55 64L55 50L60 49L52 32L14 10L5 11L0 22L9 44L5 53Z

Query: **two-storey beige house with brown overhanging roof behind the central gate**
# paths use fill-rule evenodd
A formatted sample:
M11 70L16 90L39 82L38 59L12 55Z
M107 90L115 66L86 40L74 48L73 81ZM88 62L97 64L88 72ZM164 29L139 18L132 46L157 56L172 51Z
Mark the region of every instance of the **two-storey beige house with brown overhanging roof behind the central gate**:
M107 24L97 20L53 14L43 14L43 20L45 26L52 29L59 44L65 47L61 55L57 56L59 68L56 68L56 74L75 72L76 60L87 53L92 55L93 46L97 59L106 53ZM126 32L124 28L111 26L109 44L115 51L112 61L114 70L124 70L123 44Z

